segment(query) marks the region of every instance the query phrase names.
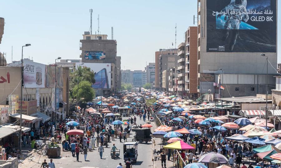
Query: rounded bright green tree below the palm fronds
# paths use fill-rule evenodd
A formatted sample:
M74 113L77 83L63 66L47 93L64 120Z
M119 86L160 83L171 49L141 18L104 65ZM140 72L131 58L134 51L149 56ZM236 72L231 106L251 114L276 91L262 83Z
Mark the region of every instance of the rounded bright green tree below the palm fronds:
M74 86L72 95L77 97L78 85ZM92 101L95 96L95 90L92 88L92 84L89 81L79 82L78 99L83 102ZM78 100L78 101L79 101Z

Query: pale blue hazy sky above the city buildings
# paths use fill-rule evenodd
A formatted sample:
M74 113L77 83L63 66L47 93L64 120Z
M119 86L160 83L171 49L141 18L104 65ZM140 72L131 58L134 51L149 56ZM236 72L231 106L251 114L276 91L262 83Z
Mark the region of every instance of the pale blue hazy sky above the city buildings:
M27 43L31 46L24 48L24 58L33 57L35 62L54 63L58 56L62 59L79 59L79 40L84 31L90 28L89 9L92 8L92 34L97 31L98 14L101 34L107 34L108 39L111 39L111 26L114 27L121 69L144 70L146 62L154 62L155 51L172 48L172 43L175 45L175 23L177 45L184 42L184 32L189 26L194 26L196 2L2 1L0 17L5 18L5 27L0 51L7 53L8 63L12 61L12 46L13 60L20 60L21 46ZM281 7L280 3L278 7ZM278 23L281 23L279 18ZM278 39L280 37L278 35Z

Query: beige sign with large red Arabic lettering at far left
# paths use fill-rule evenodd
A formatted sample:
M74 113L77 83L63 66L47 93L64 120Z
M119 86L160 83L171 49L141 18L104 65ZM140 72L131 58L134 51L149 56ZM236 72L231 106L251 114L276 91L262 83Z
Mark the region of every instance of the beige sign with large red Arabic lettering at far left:
M7 97L21 94L21 67L0 67L0 105L6 105Z

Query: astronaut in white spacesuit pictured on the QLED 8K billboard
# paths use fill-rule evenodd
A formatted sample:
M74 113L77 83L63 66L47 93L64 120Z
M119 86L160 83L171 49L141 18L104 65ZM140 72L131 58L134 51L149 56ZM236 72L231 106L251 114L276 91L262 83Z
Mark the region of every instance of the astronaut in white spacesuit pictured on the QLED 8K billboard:
M240 23L243 20L247 22L249 20L249 15L246 9L247 0L232 0L229 5L227 5L220 13L225 13L224 20L226 20L224 24L225 34L222 38L223 41L227 39L229 36L229 30L234 30L232 37L230 39L229 49L232 51L234 48L234 44L236 43L238 29L240 27ZM217 18L220 18L221 15L218 14Z

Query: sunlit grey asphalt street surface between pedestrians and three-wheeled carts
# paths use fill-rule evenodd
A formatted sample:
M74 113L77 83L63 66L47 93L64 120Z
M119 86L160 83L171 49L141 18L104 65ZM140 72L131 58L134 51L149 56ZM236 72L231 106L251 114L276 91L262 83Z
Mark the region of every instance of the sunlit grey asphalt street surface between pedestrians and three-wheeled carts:
M127 117L122 117L123 119L126 119ZM140 120L139 116L136 116L137 118L137 124L145 124L143 120ZM125 126L123 126L124 128ZM132 137L134 136L134 132L131 132L130 138L127 138L128 142L132 142ZM115 146L117 149L120 150L120 159L111 159L110 151L112 144L115 143ZM109 143L108 148L104 148L104 153L102 155L103 159L100 159L99 153L97 151L97 148L93 150L92 152L88 152L87 155L87 161L84 161L84 155L79 154L79 162L76 161L76 157L71 156L71 152L62 152L61 150L61 157L60 158L52 158L53 162L55 163L57 168L67 168L67 167L83 167L83 166L90 166L90 167L109 167L109 168L115 168L119 163L124 164L123 160L123 139L122 143L120 143L119 139L116 139L115 141L111 141ZM105 146L104 146L105 147ZM36 153L36 152L35 152ZM31 158L33 158L31 160ZM47 156L37 155L33 154L29 158L25 159L22 164L19 164L19 167L40 167L44 159L47 159L47 162L50 161L51 158L48 159ZM152 142L146 143L140 143L138 145L138 158L137 162L133 163L133 167L153 167L153 161L152 161Z

